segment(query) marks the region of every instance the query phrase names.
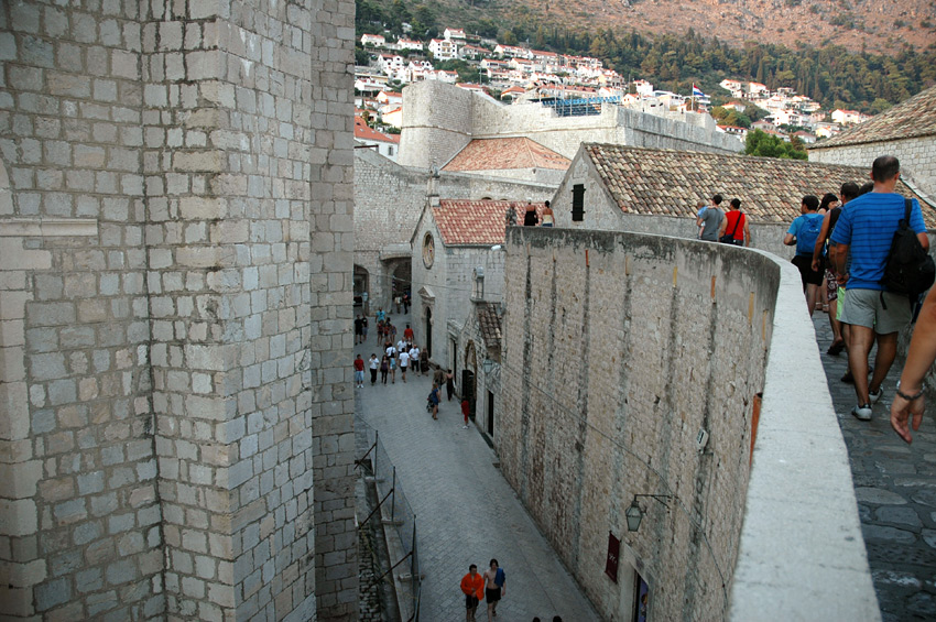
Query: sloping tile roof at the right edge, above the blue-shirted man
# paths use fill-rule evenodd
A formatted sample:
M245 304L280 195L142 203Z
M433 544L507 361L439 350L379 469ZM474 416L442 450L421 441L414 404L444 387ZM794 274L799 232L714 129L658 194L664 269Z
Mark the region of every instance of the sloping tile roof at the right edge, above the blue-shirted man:
M918 92L875 117L818 142L809 150L936 134L936 87Z

